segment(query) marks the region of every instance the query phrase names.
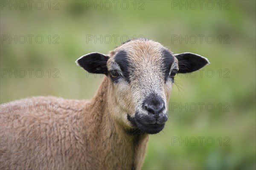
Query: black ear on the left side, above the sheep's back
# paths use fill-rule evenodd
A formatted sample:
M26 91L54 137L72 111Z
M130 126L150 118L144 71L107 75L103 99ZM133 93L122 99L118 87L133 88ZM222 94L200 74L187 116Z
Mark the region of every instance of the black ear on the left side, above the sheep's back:
M76 60L76 64L89 73L108 74L107 61L109 57L100 53L86 54Z

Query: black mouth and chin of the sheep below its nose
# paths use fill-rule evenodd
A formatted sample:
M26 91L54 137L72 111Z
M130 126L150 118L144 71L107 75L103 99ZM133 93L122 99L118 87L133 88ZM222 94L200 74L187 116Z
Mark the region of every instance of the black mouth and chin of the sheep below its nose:
M137 119L136 116L131 117L127 115L127 118L131 124L140 129L144 133L148 134L156 134L159 133L161 130L163 130L165 126L165 122L162 122L161 124L157 123L157 120L155 123L148 123L148 122L143 122L140 119Z

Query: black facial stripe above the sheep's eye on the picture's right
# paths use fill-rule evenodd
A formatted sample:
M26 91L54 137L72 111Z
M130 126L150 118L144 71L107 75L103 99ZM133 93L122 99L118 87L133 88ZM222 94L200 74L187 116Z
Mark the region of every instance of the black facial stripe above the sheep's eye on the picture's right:
M172 63L174 62L174 57L166 49L163 49L162 53L163 53L164 75L165 75L164 82L166 82L169 77L170 68L172 66Z

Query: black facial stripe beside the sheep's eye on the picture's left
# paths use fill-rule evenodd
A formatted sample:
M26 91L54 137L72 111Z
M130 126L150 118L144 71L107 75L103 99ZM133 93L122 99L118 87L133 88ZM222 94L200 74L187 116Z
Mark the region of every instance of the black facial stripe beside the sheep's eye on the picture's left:
M127 82L130 82L130 70L133 70L134 67L131 65L128 59L128 55L125 51L118 51L115 56L115 62L120 66L122 74Z

